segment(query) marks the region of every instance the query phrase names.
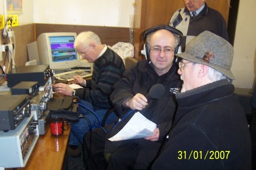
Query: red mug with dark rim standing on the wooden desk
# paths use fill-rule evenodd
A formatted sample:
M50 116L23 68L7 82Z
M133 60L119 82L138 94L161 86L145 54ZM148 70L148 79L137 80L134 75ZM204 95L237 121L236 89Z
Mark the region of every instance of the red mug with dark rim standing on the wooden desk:
M67 128L64 128L64 125ZM55 137L59 137L63 134L63 131L67 131L69 128L68 122L64 121L62 117L52 117L50 119L51 134Z

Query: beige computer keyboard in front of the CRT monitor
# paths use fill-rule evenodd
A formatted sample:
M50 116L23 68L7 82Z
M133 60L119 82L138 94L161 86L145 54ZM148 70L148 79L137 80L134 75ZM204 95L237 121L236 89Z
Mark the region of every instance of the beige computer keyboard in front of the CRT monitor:
M71 70L71 71L55 74L54 76L60 80L73 81L74 75L81 75L82 78L87 78L92 76L91 72L87 72L84 70Z

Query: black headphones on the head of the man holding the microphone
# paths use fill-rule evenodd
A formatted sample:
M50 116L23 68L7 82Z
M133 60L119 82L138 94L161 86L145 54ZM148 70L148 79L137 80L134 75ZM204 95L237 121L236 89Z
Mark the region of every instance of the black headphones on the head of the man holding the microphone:
M152 33L152 32L155 32L157 30L162 30L162 29L165 29L165 30L168 30L172 33L174 33L175 35L178 35L180 37L180 41L178 43L178 45L175 47L174 49L174 54L177 54L178 53L178 50L179 50L179 47L182 48L182 38L183 38L183 34L180 30L177 30L173 27L170 27L168 25L157 25L155 27L152 27L152 28L149 28L147 29L144 33L143 33L143 36L142 36L142 40L144 42L144 45L143 45L143 49L141 50L141 54L145 55L146 57L146 60L150 61L150 47L149 47L149 43L145 43L146 42L146 38L147 36Z

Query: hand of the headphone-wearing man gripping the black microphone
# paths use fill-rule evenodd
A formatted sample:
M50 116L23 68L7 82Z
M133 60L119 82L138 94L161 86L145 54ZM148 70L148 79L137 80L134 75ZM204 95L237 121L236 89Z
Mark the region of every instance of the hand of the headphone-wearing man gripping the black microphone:
M125 107L130 107L131 109L141 111L148 105L147 98L142 94L136 94L133 98L129 98L124 101Z

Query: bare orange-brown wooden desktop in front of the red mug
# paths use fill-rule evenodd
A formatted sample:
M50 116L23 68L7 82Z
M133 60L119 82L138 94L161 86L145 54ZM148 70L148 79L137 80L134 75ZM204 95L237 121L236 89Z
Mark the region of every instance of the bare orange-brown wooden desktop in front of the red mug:
M64 131L60 137L53 137L51 135L51 129L49 128L46 134L39 136L26 167L18 169L62 169L65 161L69 134L70 125L68 131Z

